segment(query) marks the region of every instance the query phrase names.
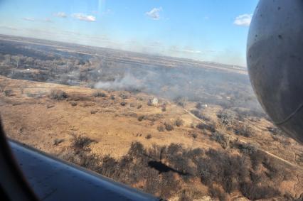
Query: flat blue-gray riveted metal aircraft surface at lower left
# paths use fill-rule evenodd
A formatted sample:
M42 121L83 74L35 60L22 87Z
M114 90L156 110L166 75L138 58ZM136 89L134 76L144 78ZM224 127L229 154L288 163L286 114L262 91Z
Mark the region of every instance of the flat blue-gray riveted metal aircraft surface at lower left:
M41 200L159 200L32 148L12 141L9 144Z

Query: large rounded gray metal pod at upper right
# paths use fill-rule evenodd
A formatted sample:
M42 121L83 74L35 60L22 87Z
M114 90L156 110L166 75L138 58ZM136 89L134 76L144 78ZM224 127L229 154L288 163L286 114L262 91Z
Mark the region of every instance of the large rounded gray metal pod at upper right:
M261 0L248 36L248 72L272 121L303 143L303 1Z

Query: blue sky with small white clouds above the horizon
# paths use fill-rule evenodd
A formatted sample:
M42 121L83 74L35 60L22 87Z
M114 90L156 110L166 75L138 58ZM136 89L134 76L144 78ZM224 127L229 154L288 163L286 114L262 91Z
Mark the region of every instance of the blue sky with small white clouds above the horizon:
M246 66L257 0L0 0L0 33Z

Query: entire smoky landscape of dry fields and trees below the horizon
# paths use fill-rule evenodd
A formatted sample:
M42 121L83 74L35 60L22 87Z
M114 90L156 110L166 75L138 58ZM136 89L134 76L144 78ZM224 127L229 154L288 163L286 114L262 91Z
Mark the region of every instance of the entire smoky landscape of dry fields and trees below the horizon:
M1 36L0 75L9 138L165 199L302 199L243 67Z

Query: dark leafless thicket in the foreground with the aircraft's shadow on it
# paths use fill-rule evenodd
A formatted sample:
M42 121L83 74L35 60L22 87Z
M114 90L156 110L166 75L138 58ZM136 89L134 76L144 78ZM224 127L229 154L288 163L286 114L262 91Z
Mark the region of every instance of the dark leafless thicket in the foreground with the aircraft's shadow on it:
M93 142L75 137L72 146L59 157L165 199L172 195L188 200L201 198L199 190L186 188L197 178L208 187L208 195L220 200L228 200L232 192L240 192L250 200L290 196L280 192L277 184L291 180L291 173L253 146L235 144L240 151L235 155L174 143L144 148L142 143L134 142L128 153L117 160L90 153Z

